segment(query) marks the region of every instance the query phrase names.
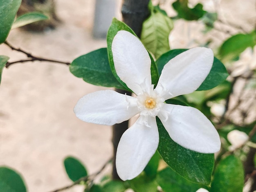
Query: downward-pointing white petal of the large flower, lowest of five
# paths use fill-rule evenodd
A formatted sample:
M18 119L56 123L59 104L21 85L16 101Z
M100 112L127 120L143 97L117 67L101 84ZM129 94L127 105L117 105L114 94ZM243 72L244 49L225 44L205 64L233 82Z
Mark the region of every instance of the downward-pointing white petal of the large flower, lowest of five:
M139 175L157 150L159 134L155 117L148 116L148 125L141 123L143 116L124 132L117 147L117 173L122 180Z

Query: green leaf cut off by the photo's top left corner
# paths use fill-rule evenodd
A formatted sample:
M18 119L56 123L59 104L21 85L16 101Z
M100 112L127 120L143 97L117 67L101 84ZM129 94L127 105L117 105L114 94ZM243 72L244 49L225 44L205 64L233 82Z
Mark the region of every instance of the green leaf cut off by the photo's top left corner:
M20 4L21 0L0 1L0 44L7 39Z

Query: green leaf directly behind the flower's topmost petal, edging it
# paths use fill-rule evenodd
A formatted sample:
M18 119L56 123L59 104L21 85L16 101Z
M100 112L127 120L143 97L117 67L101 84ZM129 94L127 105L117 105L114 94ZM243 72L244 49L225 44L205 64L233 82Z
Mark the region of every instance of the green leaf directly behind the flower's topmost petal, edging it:
M119 20L117 20L116 18L114 18L112 20L112 24L110 26L110 28L108 29L108 36L107 36L107 43L108 43L108 59L109 59L109 63L110 63L110 68L112 70L112 73L114 74L115 78L117 78L117 80L126 88L126 90L130 90L126 84L121 81L121 79L117 76L117 73L115 71L115 67L114 67L114 61L113 61L113 54L112 54L112 41L115 37L115 35L117 34L118 31L121 30L125 30L128 31L130 33L132 33L133 35L135 35L135 33L132 31L132 29L130 29L130 27L128 27L124 22L121 22ZM136 36L136 35L135 35ZM153 59L153 57L149 54L150 58L151 58L151 79L152 79L152 84L156 85L157 81L158 81L158 72L157 72L157 67L155 66L155 61Z

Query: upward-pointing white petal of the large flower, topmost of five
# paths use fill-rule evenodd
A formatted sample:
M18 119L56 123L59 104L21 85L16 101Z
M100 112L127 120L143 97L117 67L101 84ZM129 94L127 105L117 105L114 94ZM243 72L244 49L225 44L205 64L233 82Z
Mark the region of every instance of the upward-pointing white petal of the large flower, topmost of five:
M112 53L117 75L135 94L141 92L140 84L151 85L151 60L137 37L128 31L118 31L112 42Z

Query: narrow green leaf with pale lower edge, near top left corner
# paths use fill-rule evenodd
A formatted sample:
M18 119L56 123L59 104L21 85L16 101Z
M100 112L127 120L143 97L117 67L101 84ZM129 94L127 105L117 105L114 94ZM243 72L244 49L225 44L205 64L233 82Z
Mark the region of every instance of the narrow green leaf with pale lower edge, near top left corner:
M32 22L41 21L48 19L43 13L39 12L30 12L26 13L22 16L19 16L14 22L11 29L15 29L17 27L22 27L24 25L30 24Z

